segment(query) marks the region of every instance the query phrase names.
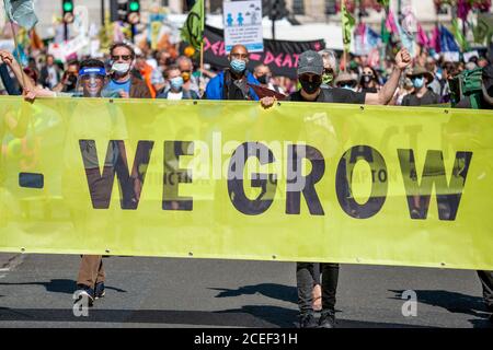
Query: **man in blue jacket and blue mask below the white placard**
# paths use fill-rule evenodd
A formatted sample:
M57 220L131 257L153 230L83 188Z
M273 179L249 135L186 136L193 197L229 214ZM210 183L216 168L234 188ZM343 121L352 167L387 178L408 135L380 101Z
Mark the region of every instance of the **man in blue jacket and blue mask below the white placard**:
M249 84L259 85L259 81L246 70L249 51L243 45L234 45L228 55L229 68L214 77L207 84L206 100L259 101L259 96Z

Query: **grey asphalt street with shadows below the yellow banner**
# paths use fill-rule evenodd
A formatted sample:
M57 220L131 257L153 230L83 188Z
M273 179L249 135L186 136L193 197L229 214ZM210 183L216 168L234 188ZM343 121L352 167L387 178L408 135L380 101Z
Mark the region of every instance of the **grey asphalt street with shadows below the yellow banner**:
M72 311L79 256L0 262L0 327L294 327L297 316L294 262L105 258L106 296L87 317ZM402 315L405 290L416 316ZM467 270L343 265L336 310L345 328L492 327Z

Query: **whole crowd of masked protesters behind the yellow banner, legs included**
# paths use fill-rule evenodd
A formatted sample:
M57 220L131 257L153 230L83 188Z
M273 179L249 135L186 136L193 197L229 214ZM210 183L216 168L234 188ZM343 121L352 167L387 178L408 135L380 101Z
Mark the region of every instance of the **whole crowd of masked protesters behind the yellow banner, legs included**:
M274 77L265 65L250 71L246 69L249 51L242 45L231 49L228 60L229 67L222 70L206 70L187 56L116 43L101 60L82 58L64 66L45 55L31 58L22 69L11 52L0 51L0 90L2 94L24 93L27 100L39 96L206 98L260 101L264 108L272 107L278 98L402 106L454 103L458 107L486 109L493 105L493 72L486 57L450 62L426 50L412 58L402 49L393 59L385 61L385 69L379 69L369 66L366 57L351 57L341 62L332 50L306 51L298 61L297 80ZM482 93L477 100L454 101L457 100L454 79L468 71L480 71ZM322 281L320 273L324 277ZM336 264L297 264L300 327L335 325L339 273ZM493 273L480 271L479 276L486 304L493 308ZM102 257L83 256L78 285L91 303L104 296L104 277ZM322 312L318 324L313 311Z

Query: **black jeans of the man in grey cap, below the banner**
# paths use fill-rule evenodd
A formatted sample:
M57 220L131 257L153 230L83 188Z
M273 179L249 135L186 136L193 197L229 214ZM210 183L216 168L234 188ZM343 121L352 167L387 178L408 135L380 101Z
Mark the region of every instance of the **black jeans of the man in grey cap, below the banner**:
M298 306L301 314L313 313L313 262L296 264L296 284L298 288ZM321 262L322 271L322 313L335 311L335 293L337 291L339 264Z

